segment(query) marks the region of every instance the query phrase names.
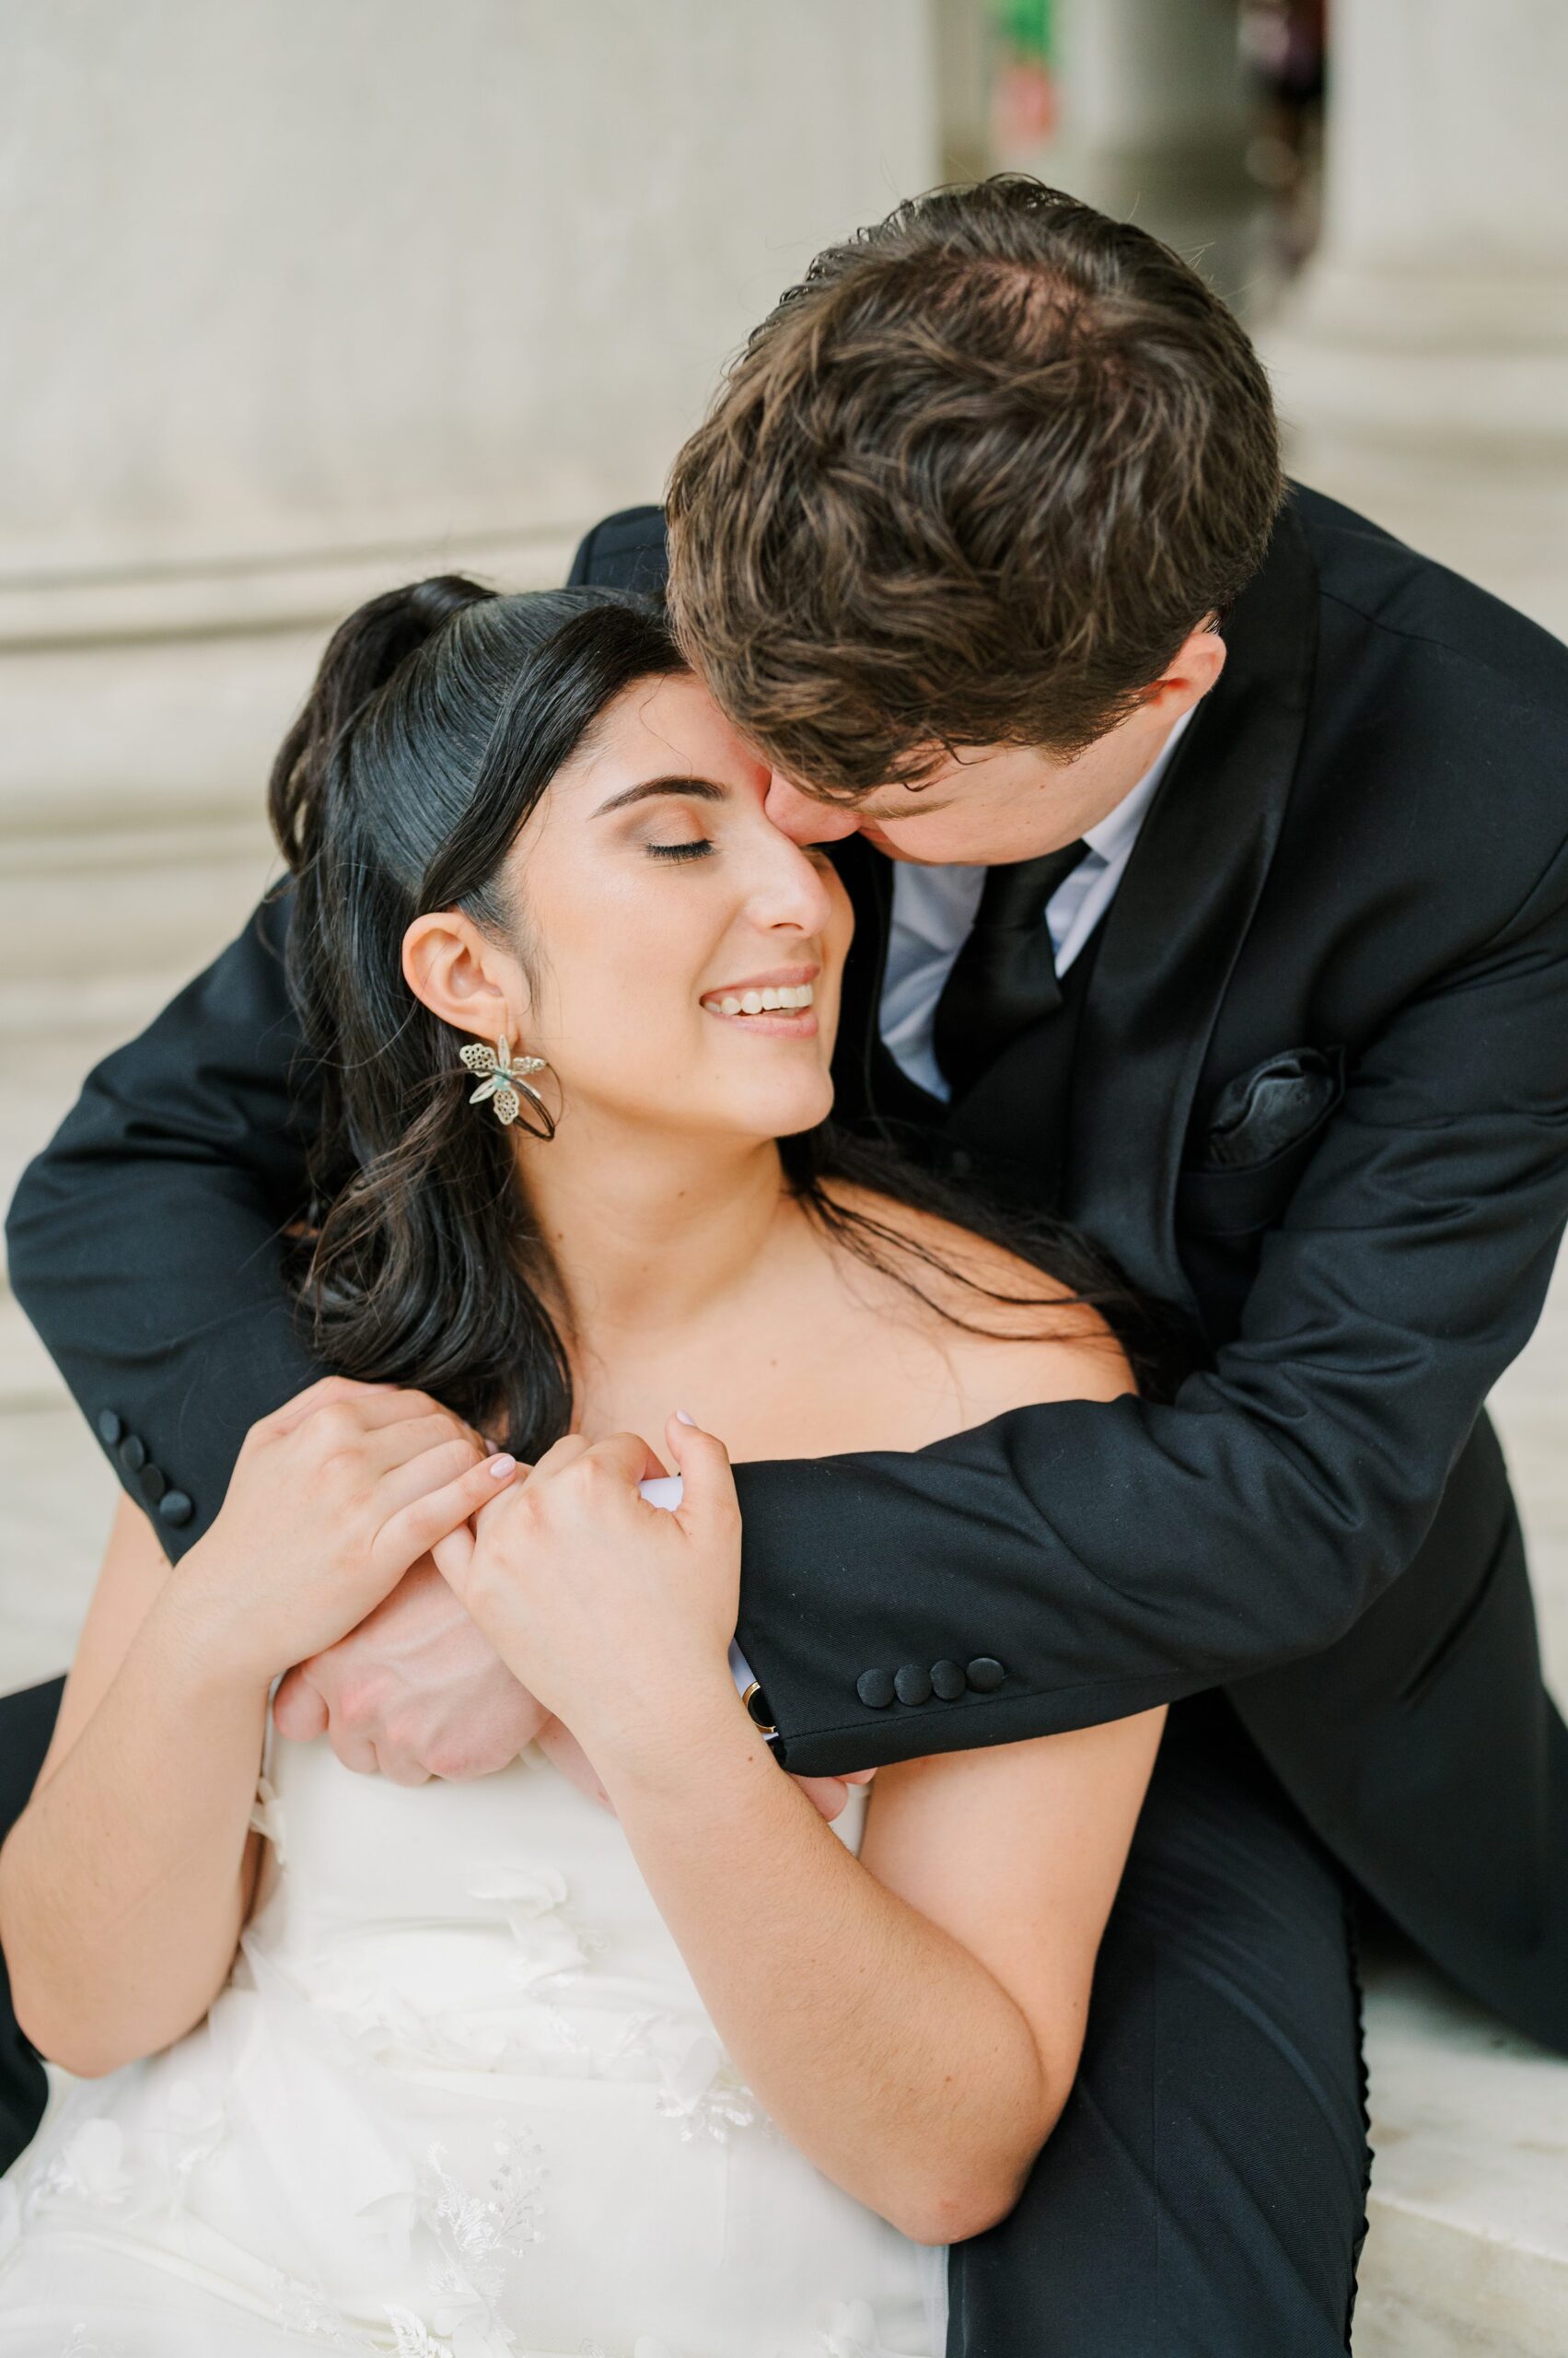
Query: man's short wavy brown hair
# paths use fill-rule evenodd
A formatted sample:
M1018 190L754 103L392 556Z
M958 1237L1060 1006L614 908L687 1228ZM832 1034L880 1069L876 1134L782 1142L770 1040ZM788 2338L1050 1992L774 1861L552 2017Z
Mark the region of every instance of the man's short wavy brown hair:
M828 797L1073 755L1261 564L1269 377L1170 245L1023 174L816 257L674 462L670 611Z

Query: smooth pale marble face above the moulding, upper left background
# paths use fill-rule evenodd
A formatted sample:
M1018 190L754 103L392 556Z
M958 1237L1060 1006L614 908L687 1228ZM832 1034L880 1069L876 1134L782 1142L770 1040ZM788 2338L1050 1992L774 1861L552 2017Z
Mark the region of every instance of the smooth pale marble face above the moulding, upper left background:
M0 38L0 575L40 594L648 498L811 252L936 177L924 0L9 0Z

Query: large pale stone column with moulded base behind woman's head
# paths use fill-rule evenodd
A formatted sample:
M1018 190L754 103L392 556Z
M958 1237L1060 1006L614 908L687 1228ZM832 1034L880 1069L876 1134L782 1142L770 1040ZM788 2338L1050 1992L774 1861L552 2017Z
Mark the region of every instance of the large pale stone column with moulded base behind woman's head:
M929 47L927 0L9 0L0 988L224 938L363 597L658 500L811 252L938 177Z

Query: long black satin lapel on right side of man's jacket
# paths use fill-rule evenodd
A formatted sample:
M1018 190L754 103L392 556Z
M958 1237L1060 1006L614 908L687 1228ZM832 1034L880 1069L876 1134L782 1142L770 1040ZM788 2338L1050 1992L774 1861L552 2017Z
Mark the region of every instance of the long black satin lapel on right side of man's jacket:
M1144 818L1087 995L1063 1212L1134 1285L1191 1304L1177 1172L1210 1033L1278 842L1316 656L1316 573L1290 509L1226 623L1226 667Z

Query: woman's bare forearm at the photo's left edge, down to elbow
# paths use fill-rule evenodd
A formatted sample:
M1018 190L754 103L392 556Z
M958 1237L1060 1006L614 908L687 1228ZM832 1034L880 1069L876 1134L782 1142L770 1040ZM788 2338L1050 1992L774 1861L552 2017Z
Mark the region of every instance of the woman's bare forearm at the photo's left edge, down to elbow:
M224 1665L170 1578L71 1752L0 1851L0 1945L33 2044L97 2077L167 2047L222 1988L248 1905L266 1684Z

